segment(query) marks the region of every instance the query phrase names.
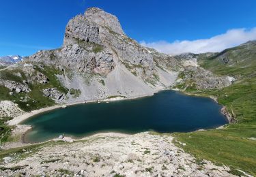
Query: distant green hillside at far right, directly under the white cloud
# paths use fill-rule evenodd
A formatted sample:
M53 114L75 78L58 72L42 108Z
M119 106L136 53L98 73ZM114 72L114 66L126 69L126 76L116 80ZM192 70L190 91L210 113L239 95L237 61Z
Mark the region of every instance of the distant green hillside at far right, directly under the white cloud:
M216 74L232 74L240 79L255 76L256 41L246 42L219 53L197 54L201 67ZM241 78L242 79L242 78Z

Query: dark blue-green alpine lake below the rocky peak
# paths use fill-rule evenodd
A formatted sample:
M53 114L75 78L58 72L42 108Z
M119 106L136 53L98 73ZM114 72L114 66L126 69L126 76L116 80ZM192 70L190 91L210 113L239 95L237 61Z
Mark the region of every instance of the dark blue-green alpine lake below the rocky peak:
M160 133L211 129L228 123L221 106L210 98L161 91L152 97L85 103L33 116L25 142L43 142L65 134L82 138L100 132Z

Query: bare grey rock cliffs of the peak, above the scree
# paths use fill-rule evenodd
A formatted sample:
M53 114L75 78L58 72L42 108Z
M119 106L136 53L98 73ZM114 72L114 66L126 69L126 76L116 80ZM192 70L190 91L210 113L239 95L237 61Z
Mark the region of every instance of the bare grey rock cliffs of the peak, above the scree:
M103 75L113 71L117 62L139 65L146 77L154 69L150 52L124 34L115 16L96 7L68 22L61 48L40 51L30 59Z

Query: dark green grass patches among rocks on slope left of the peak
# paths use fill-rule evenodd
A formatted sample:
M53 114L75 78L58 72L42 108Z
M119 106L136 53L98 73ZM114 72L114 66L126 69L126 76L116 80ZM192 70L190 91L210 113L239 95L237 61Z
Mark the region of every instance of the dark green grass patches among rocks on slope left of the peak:
M8 88L5 88L5 86L0 85L0 100L11 100L18 104L18 106L25 111L31 111L31 110L38 110L40 108L45 108L48 106L55 105L55 101L53 101L49 97L45 97L42 93L42 90L44 88L51 88L55 87L60 91L61 93L68 93L68 89L61 86L61 83L55 76L55 74L59 74L59 70L55 69L54 67L44 67L44 69L37 67L35 65L35 70L40 71L42 74L44 74L48 78L48 83L46 84L40 84L33 82L33 84L29 83L29 88L31 91L29 93L15 93L14 95L10 95L10 90ZM16 76L16 73L20 73L21 77ZM23 80L27 80L27 77L25 76L22 69L5 69L0 71L0 78L5 80L12 80L15 82L23 83ZM21 98L27 97L27 101L23 101ZM29 104L29 106L27 106Z

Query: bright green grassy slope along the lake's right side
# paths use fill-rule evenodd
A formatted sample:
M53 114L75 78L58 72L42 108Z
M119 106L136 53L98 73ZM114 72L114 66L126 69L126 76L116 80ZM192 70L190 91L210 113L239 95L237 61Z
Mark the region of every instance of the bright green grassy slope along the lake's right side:
M198 59L201 67L237 80L221 90L195 91L199 95L213 95L218 102L233 112L239 123L225 129L175 133L185 142L184 150L200 159L229 165L233 174L243 170L256 176L256 42Z

